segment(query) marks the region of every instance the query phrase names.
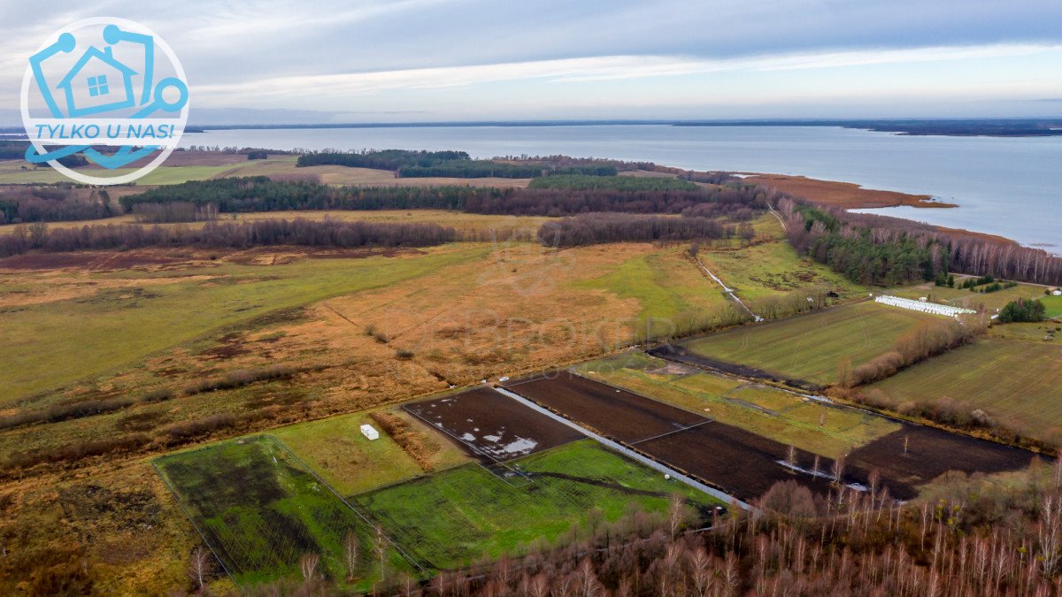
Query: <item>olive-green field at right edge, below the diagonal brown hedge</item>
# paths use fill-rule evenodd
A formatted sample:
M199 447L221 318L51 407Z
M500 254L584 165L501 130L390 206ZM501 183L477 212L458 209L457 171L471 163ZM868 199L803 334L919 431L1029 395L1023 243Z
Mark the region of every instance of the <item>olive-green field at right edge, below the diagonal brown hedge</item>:
M1004 327L1010 327L1004 326ZM1062 342L988 338L933 357L871 386L897 404L948 397L1012 420L1038 437L1062 439Z

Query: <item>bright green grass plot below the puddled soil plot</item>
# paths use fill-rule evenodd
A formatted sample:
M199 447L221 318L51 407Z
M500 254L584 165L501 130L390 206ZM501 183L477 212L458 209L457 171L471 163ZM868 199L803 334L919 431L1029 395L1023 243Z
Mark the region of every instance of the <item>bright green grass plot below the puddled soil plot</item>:
M572 525L586 525L595 509L616 521L632 507L665 512L671 493L701 507L717 504L592 440L510 464L536 474L534 481L512 487L468 464L354 500L414 558L438 568L512 552L539 539L554 541Z

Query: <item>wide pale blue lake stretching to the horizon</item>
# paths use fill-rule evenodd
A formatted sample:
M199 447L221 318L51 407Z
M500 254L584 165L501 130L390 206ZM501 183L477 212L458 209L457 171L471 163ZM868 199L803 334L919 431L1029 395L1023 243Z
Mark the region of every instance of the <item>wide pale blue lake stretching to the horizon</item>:
M464 150L474 157L554 155L695 170L801 174L930 194L955 209L868 211L996 234L1062 252L1062 137L914 137L835 126L406 126L225 130L183 144L291 149Z

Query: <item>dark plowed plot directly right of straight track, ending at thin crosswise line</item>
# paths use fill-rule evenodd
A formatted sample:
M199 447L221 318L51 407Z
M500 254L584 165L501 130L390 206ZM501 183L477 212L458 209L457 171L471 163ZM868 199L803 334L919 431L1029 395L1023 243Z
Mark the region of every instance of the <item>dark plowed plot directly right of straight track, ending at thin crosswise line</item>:
M567 372L506 388L615 440L634 443L705 423L707 419Z

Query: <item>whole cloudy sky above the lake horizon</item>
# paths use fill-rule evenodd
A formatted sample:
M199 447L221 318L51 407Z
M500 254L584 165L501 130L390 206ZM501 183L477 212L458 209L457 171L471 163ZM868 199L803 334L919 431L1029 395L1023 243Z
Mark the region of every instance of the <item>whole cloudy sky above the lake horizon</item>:
M189 124L1062 116L1062 2L0 0L0 125L56 29L143 23Z

